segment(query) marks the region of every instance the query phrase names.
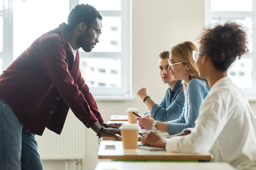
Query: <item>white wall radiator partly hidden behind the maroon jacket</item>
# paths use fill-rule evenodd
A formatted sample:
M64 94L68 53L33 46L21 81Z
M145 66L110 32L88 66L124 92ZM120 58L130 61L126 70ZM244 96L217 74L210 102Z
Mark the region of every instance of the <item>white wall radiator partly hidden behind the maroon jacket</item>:
M70 160L85 158L85 126L73 113L68 113L61 135L48 129L37 136L38 152L42 160Z

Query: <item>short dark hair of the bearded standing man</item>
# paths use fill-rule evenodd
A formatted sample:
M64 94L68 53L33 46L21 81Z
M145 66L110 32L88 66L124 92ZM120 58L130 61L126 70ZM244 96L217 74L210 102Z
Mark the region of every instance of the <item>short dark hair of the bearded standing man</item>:
M70 11L67 18L67 26L70 30L73 30L77 25L84 22L86 25L93 24L94 20L98 18L102 20L102 16L94 6L89 4L79 4Z

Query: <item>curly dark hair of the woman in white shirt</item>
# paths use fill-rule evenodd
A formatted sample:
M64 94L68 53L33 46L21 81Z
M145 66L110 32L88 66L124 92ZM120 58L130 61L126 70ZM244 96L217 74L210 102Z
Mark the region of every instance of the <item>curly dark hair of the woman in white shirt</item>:
M245 28L234 22L204 29L200 38L200 51L209 57L219 71L227 71L230 65L248 52Z

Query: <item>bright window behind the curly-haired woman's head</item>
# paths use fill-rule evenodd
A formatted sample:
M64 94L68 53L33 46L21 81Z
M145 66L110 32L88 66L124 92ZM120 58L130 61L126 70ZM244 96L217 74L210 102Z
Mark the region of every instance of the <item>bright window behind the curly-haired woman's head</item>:
M205 15L206 26L233 21L247 27L249 54L237 59L228 75L247 96L256 96L256 0L205 0Z

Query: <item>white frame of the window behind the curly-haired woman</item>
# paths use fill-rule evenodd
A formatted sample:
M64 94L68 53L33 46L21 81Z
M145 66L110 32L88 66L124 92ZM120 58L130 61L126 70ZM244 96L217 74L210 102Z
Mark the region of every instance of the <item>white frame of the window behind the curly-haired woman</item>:
M252 59L252 65L256 65L256 58L253 57L256 54L256 0L253 0L252 2L252 11L211 11L211 0L205 0L205 25L209 26L211 24L211 20L213 18L233 18L233 19L239 19L244 17L250 17L252 19L253 23L253 31L252 31L252 48L253 51L250 52L247 55L244 55L241 57L241 59ZM230 75L230 73L228 73ZM247 98L256 98L256 69L252 70L252 88L241 88ZM255 78L254 78L255 77Z

